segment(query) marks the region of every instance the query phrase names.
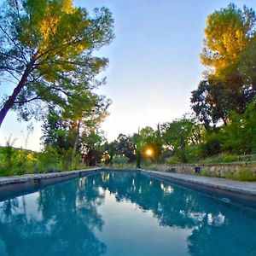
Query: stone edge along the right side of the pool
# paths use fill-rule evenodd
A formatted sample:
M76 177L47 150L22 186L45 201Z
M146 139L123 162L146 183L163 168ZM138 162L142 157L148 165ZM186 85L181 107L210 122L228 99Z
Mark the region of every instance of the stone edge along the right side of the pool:
M141 170L141 172L151 177L158 177L165 181L183 185L189 189L201 191L207 195L256 208L256 182L241 182L222 177L202 177L151 170Z

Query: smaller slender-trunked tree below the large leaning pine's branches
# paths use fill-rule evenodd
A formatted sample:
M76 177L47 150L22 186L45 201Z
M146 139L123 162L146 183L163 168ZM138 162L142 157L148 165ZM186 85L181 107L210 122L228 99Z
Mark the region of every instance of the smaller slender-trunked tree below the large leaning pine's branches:
M89 90L67 103L62 111L50 109L42 126L42 139L45 147L55 147L59 153L70 150L73 163L75 155L81 154L81 137L95 133L108 114L109 100Z

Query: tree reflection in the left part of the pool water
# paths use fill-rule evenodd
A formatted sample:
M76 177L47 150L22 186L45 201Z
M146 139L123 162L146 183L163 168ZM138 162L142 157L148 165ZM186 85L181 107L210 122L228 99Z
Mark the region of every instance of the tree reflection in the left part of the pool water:
M93 232L103 225L96 211L103 201L98 192L100 180L76 179L41 189L31 198L1 202L0 240L7 255L104 253L106 245Z

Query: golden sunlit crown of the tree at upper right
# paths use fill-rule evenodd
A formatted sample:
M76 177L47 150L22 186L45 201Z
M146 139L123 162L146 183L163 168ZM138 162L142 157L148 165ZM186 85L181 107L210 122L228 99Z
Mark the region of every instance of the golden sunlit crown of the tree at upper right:
M241 10L234 3L209 15L202 63L218 77L234 75L241 53L255 37L255 22L253 9Z

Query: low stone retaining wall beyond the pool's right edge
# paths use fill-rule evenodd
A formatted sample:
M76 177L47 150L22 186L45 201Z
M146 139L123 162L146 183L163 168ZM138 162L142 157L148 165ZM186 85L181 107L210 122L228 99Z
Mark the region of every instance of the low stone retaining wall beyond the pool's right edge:
M176 172L184 174L201 174L209 177L244 177L245 175L255 177L256 162L236 162L224 164L180 164L180 165L160 165L157 171Z

